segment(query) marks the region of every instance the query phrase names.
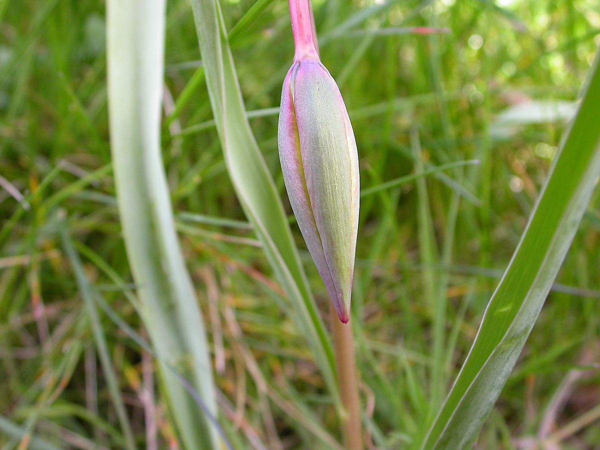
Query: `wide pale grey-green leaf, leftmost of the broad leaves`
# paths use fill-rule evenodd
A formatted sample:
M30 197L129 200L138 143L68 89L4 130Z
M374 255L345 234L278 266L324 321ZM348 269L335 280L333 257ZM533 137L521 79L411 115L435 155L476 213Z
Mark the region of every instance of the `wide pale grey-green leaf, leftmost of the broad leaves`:
M165 14L164 0L107 2L110 143L125 247L170 412L185 448L216 449L216 430L170 370L216 414L205 329L160 154Z

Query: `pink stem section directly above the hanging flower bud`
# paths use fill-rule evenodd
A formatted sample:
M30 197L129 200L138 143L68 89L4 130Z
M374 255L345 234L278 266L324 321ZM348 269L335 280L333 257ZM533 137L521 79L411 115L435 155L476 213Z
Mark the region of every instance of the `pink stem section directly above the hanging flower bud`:
M294 61L300 61L304 58L319 60L313 7L310 0L288 0L288 3L294 37Z

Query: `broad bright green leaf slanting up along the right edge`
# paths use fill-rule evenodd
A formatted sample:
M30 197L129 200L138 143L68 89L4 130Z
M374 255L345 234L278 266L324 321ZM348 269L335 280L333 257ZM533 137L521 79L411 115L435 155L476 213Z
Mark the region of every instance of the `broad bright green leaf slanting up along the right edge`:
M600 175L600 53L511 262L422 450L469 445L494 406L565 259Z

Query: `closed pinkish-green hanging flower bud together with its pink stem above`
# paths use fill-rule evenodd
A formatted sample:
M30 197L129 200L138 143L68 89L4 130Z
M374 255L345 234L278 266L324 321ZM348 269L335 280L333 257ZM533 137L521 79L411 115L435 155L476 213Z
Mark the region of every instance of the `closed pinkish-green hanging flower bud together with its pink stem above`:
M289 0L289 6L295 55L281 93L281 169L308 251L346 323L358 232L358 152L340 89L319 59L310 0Z

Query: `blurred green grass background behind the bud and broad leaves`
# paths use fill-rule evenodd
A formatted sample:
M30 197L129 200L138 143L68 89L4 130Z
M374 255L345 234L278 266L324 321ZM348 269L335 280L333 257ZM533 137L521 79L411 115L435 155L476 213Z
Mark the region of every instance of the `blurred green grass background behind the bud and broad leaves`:
M287 2L263 1L256 20L236 26L253 4L221 2L251 125L286 199L274 108L293 55ZM365 421L374 448L404 448L427 413L432 294L448 299L447 389L574 113L600 44L600 2L319 0L313 7L323 64L352 119L363 189L414 173L416 157L425 169L479 161L361 199L352 323ZM103 2L0 2L2 449L29 445L7 431L17 424L61 448L124 445L59 238L64 218L104 301L100 319L137 443L178 448L152 357L124 325L145 336L126 296L104 28ZM187 0L169 2L166 38L164 164L223 421L241 430L239 448L252 448L248 436L272 448L320 448L306 430L337 436L334 412L227 176ZM599 448L600 412L578 422L600 403L598 197L477 448L529 450L544 427L572 424L581 426L558 448ZM295 225L293 232L304 250ZM325 287L302 256L328 314ZM257 388L257 370L291 409ZM319 423L306 423L305 403Z

